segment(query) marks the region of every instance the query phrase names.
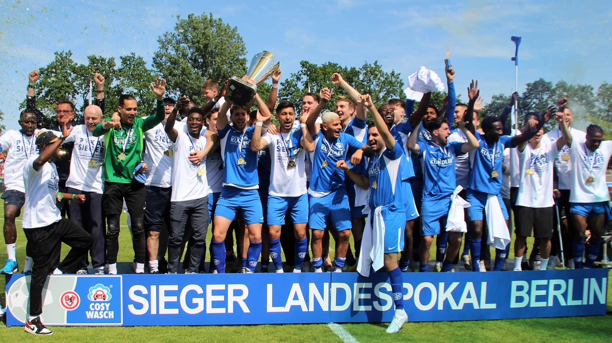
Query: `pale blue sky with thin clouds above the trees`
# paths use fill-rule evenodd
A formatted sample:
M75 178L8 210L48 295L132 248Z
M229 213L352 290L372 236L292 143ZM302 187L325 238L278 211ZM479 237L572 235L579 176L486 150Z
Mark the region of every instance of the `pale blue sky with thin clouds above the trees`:
M515 68L510 36L523 37L519 90L538 78L599 86L610 78L612 6L609 1L2 1L0 2L0 108L4 125L18 128L18 104L28 72L47 65L54 51L134 52L151 64L157 38L176 16L212 12L237 26L247 59L269 50L283 75L299 61L359 67L379 61L406 79L421 65L443 73L444 56L466 93L479 79L480 94L510 94Z

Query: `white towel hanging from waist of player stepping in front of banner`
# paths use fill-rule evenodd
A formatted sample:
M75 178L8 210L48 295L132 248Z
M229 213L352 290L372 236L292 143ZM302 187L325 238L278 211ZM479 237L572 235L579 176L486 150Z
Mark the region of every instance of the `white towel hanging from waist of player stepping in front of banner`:
M357 261L357 273L370 276L370 267L379 270L384 267L384 219L382 206L376 207L365 222L364 236L361 239L361 254Z

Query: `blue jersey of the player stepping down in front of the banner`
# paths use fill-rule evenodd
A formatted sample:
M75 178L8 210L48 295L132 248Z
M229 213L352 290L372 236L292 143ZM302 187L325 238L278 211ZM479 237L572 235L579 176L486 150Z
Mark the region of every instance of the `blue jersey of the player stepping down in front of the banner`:
M378 206L389 208L393 212L405 212L406 191L408 185L408 164L404 150L400 144L395 144L391 150L384 149L382 153L370 158L368 177L370 179L370 208Z

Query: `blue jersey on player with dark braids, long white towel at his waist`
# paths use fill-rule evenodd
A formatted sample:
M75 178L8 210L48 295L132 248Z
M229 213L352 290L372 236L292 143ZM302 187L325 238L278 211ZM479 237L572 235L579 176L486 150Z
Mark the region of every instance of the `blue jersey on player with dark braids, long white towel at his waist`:
M487 144L484 138L476 133L480 146L469 153L469 181L468 190L487 194L501 192L502 164L504 163L504 149L512 148L512 137L501 136L495 144ZM494 177L493 177L494 176Z

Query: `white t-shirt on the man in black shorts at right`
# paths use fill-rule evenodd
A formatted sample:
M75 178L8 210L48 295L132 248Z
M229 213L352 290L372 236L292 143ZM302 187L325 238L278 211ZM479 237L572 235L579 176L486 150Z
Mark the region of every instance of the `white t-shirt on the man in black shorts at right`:
M523 179L518 188L517 206L543 208L554 205L553 168L558 153L557 144L546 139L540 141L538 149L533 149L528 142L523 152L518 153Z

